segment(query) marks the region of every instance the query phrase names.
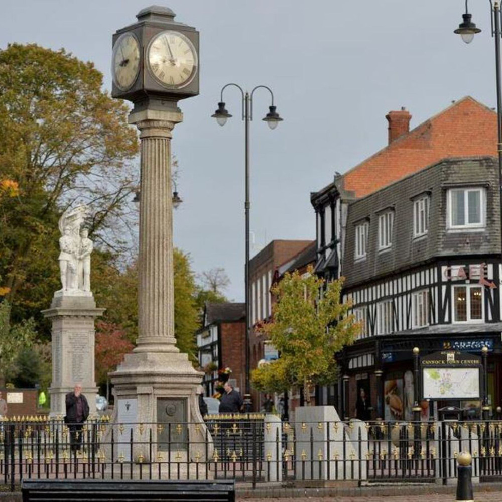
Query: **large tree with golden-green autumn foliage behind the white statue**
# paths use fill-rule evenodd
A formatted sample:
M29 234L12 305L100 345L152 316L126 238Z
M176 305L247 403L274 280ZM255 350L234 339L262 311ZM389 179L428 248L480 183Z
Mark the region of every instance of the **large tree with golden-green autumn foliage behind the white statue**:
M15 318L35 315L58 286L57 221L68 206L91 205L101 246L126 246L138 152L127 114L92 63L35 44L0 50L0 180L18 190L0 197L0 276Z

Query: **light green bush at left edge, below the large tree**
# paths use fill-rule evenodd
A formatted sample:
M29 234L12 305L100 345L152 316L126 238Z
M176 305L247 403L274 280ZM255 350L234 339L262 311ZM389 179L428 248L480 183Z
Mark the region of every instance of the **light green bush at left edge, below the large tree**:
M11 325L11 306L7 301L0 303L0 378L12 371L13 363L20 352L32 346L37 338L33 319Z

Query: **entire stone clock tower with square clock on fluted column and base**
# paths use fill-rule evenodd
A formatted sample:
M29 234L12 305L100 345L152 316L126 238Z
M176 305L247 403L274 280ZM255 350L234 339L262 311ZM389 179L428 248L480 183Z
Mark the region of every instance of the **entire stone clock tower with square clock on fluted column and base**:
M148 7L136 23L113 35L112 96L134 103L129 123L140 131L141 196L137 346L110 379L113 423L122 424L120 430L115 426L115 437L134 437L133 458L129 445L117 450L115 458L121 454L126 461L155 461L169 447L166 424L176 424L180 443L190 438L181 452L189 465L206 455L200 448L206 428L197 396L202 373L180 353L174 333L171 138L183 120L178 101L199 93L199 34L174 17L166 7ZM159 423L164 425L157 427Z

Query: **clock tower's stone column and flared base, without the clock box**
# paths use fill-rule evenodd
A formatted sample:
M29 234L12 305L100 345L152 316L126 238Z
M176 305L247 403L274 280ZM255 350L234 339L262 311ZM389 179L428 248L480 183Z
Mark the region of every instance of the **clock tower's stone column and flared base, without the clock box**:
M165 110L133 111L129 117L141 138L139 336L137 347L110 379L115 396L113 422L130 424L129 434L133 431L136 444L133 461L140 456L142 461L150 460L148 445L141 445L144 427L152 430L151 460L165 456L167 439L163 435L169 424L177 427L177 456L205 460L206 427L196 394L203 373L193 368L187 354L179 352L174 333L171 136L182 118L179 109L167 105ZM190 432L183 425L187 422L191 422ZM190 438L188 448L185 437ZM174 440L171 437L171 442ZM161 443L159 448L157 442ZM125 450L124 455L131 456Z

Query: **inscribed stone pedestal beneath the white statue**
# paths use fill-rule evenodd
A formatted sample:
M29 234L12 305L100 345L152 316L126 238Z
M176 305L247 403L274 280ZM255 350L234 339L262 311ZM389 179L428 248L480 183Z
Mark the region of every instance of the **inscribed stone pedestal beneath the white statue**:
M52 321L51 417L64 416L65 395L82 384L90 412L96 411L94 378L94 320L105 309L96 308L92 293L82 296L56 293L51 308L43 310Z

